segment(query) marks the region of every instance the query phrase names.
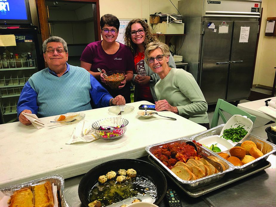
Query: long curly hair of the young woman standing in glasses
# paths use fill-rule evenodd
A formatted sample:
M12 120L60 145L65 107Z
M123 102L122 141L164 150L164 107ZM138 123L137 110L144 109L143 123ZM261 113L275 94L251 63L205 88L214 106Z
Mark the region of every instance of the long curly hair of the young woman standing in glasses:
M147 24L147 22L145 22L142 19L132 19L127 24L127 27L126 27L126 30L125 30L125 35L124 35L124 40L125 40L125 44L131 48L131 51L133 52L134 55L135 55L136 50L137 50L137 45L132 42L130 32L131 32L131 25L135 24L135 23L141 24L141 26L144 29L144 33L145 33L144 49L146 49L147 45L150 42L159 42L158 38L151 33L149 25Z

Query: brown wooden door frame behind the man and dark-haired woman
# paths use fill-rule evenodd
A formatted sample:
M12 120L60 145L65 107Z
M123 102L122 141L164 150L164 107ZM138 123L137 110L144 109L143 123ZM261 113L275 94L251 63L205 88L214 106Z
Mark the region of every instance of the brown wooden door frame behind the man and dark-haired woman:
M93 17L94 17L94 35L95 41L101 40L100 31L100 5L99 0L63 0L64 1L72 1L72 2L92 2L95 4L95 10L93 9ZM37 8L37 16L39 20L39 27L41 32L42 42L50 37L49 28L48 28L48 19L47 19L47 11L45 6L45 0L36 0L36 8ZM94 6L93 6L94 8Z

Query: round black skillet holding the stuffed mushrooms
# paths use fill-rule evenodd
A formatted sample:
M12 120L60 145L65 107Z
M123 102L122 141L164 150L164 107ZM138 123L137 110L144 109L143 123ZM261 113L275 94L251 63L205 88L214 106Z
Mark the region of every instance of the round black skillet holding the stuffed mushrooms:
M133 168L139 172L143 173L143 176L148 176L151 178L155 186L157 187L157 197L155 200L155 205L161 202L163 199L166 189L167 189L167 180L164 174L154 165L147 163L142 160L133 160L133 159L119 159L111 160L105 163L102 163L90 171L88 171L84 177L82 177L81 182L78 186L78 197L81 200L81 203L84 206L88 207L88 194L92 187L98 182L99 176L106 174L109 171L118 171L119 169L130 169Z

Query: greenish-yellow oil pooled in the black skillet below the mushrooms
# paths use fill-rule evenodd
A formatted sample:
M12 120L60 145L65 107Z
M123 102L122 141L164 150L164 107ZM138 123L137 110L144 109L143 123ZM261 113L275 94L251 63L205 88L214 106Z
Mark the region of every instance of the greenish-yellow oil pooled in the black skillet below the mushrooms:
M135 178L125 180L122 183L116 182L115 179L107 180L104 184L97 182L88 195L89 202L98 200L102 206L110 206L112 203L116 204L118 202L121 203L123 200L128 203L122 204L131 204L133 200L129 198L132 197L134 197L133 200L139 198L142 201L154 203L157 197L155 184L151 179L137 174Z

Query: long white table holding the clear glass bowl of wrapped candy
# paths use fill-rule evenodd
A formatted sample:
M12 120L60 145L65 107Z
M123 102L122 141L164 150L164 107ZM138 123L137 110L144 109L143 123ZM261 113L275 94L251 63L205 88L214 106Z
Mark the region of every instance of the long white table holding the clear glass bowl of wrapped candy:
M138 106L150 104L147 101L129 105L134 111L123 115L129 121L126 133L115 140L98 139L90 143L65 144L76 124L50 123L55 116L41 118L44 128L35 129L20 122L0 125L0 187L23 183L52 174L64 178L84 174L100 163L121 159L139 158L147 155L145 147L154 143L182 137L190 137L206 130L205 127L189 121L172 112L158 112L145 119L137 115ZM84 111L85 121L115 117L108 107Z

